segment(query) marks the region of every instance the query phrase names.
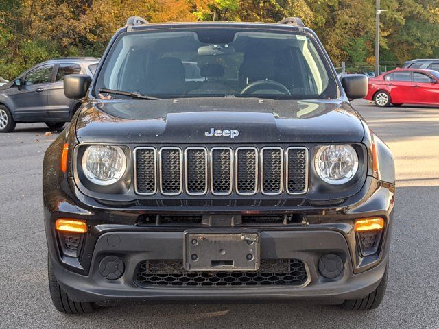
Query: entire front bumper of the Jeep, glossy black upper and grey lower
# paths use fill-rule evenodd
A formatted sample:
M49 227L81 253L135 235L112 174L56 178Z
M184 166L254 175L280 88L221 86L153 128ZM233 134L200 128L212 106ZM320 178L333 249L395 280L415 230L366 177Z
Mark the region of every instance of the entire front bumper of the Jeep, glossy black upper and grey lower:
M49 257L59 284L73 300L304 298L341 302L371 293L381 281L388 263L394 185L375 178L368 178L358 195L337 206L298 206L288 210L302 214L307 219L306 223L251 229L228 228L229 232L256 229L261 234L261 259L299 259L305 263L307 280L304 284L266 287L139 287L135 280L139 263L145 260L182 260L185 230L137 226L136 219L148 211L146 209L123 210L88 206L82 202L83 199L77 198L78 191L75 194L69 192L67 181L50 187L45 191ZM189 209L180 210L185 211ZM212 212L209 209L204 211ZM228 213L231 211L227 210ZM274 213L285 212L285 209L259 211ZM385 219L385 230L377 254L363 257L359 253L353 222L357 218L373 216ZM85 219L88 223L89 230L79 258L62 254L54 230L54 221L61 217ZM206 231L221 229L224 228L203 228ZM325 254L336 254L342 258L344 270L337 278L328 279L320 274L318 261ZM108 255L118 256L125 265L123 275L117 280L107 280L99 273L99 263Z

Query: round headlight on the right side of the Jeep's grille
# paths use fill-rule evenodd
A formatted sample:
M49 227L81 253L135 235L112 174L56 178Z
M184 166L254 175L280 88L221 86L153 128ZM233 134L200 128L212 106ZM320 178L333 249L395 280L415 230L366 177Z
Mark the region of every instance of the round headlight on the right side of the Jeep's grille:
M314 166L325 182L334 185L344 184L357 173L357 152L351 145L322 146L317 151Z

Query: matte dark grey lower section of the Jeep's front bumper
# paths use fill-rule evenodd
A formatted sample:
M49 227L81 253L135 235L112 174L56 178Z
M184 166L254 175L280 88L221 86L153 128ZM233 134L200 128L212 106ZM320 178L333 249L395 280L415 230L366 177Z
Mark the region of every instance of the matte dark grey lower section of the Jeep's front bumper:
M115 239L117 237L117 239ZM139 287L135 282L137 265L148 259L182 257L181 232L111 232L99 237L88 276L69 271L52 258L54 271L62 289L78 301L108 300L240 300L252 299L318 299L331 302L364 297L383 277L387 258L379 265L354 274L346 239L339 232L262 231L261 258L298 258L307 268L307 281L295 286L258 287ZM114 241L119 241L117 246ZM318 272L320 256L329 252L344 260L344 272L327 279ZM99 273L99 261L116 254L125 264L123 276L106 280Z

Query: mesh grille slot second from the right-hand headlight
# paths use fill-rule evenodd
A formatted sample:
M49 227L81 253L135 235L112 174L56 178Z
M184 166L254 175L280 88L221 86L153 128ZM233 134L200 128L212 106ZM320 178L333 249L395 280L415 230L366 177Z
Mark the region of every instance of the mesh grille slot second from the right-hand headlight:
M262 150L262 191L265 194L282 192L283 151L279 148Z

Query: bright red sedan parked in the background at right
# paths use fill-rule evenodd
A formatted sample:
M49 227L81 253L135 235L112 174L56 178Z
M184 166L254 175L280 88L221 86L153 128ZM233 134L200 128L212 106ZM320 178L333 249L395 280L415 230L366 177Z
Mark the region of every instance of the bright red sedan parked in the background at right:
M401 104L439 105L439 72L395 69L369 79L368 101L380 107Z

